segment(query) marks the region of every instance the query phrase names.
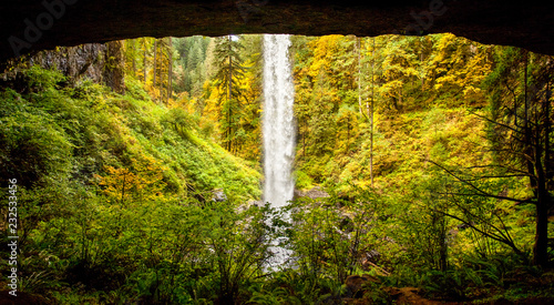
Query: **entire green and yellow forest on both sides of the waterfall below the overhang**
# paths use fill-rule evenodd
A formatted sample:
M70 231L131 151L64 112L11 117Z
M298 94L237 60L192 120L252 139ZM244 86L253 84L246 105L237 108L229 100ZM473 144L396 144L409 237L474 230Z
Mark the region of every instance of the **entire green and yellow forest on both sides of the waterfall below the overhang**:
M290 40L283 209L263 201L263 35L0 64L0 303L554 303L553 57ZM276 240L289 264L268 266Z

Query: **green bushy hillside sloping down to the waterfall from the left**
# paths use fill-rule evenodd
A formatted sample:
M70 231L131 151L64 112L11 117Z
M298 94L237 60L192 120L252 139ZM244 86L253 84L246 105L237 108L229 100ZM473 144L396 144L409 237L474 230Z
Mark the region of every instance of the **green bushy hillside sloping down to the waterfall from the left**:
M265 258L265 240L248 242L253 232L266 236L264 212L235 212L259 196L259 173L202 139L194 116L153 103L135 80L125 96L88 81L64 88L61 74L37 67L28 80L31 90L4 89L0 99L0 170L19 186L21 288L61 304L186 304L214 301L216 283L227 281L236 297ZM215 187L229 201L203 205ZM230 276L214 268L222 260Z

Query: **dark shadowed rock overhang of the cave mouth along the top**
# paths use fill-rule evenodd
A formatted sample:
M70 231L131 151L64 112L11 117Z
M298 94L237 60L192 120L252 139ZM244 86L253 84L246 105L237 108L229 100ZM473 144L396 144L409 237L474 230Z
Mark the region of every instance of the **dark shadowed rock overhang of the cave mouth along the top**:
M0 3L0 59L136 37L452 32L554 54L554 2L506 0L18 0Z

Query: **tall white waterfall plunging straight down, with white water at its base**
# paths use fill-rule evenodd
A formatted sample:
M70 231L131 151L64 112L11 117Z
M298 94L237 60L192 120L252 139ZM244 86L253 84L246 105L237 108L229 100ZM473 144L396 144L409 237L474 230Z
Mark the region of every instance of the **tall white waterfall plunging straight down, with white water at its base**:
M295 88L289 47L287 34L264 35L264 202L271 207L286 206L295 191ZM281 266L290 257L289 250L278 246L284 238L277 238L269 248L274 253L268 262L271 267Z

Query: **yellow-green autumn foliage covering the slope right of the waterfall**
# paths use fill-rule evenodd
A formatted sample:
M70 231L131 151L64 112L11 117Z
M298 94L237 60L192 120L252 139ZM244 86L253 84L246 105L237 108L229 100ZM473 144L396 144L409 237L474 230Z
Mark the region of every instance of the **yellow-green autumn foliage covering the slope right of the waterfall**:
M522 154L525 148L519 145L524 118L532 115L527 138L550 143L542 129L552 116L545 102L552 98L545 93L552 74L544 59L530 54L525 61L524 51L452 34L359 42L298 37L294 48L297 186L320 183L355 201L363 197L360 189L380 194L372 201L379 209L371 221L379 228L365 236L362 247L379 253L371 263L399 279L394 285L420 286L448 299L480 297L486 294L483 286L509 285L502 279L506 270L494 260L515 255L513 265L527 264L534 243L530 197L537 192L537 177L524 165L531 151ZM358 69L359 75L349 74ZM534 102L524 102L524 94ZM489 99L493 116L484 109ZM525 116L525 111L534 114ZM538 159L533 156L534 164L551 162ZM341 247L343 240L326 230L338 227L339 220L326 218L339 209L308 212L317 210L308 203L299 209L295 230L304 238L291 240L302 253L299 271L332 276L341 268L326 254L352 245L350 240ZM472 257L494 263L475 265Z

